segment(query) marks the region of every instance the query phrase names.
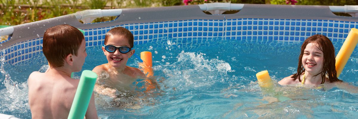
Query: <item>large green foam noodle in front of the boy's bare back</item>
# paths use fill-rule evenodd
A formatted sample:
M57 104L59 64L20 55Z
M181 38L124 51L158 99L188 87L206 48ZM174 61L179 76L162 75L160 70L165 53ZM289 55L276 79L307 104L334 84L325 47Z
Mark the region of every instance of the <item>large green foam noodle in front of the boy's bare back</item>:
M76 94L67 119L83 119L91 100L97 74L90 70L82 71Z

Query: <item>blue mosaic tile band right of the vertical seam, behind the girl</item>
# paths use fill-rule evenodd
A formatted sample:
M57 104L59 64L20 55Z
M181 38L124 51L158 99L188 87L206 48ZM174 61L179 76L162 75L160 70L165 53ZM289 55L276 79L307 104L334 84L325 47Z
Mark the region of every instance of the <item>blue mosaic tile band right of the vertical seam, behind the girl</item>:
M228 19L226 39L257 39L304 41L322 34L332 41L344 41L349 30L358 28L357 22L301 19Z

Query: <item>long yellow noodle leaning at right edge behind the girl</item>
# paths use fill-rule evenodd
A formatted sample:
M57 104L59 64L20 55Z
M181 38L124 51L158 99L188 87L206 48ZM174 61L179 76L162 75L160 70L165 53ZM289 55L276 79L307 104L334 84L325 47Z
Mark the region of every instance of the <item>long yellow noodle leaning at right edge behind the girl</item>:
M336 70L337 77L339 77L340 73L342 73L345 64L352 55L355 46L358 43L358 30L355 28L350 29L347 38L345 39L342 48L340 48L337 56L336 56Z

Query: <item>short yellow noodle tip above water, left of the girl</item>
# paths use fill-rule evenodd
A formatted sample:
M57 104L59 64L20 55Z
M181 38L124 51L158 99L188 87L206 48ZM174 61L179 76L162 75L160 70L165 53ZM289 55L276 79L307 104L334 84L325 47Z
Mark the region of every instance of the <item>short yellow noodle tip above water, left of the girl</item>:
M272 88L273 83L269 71L265 70L257 73L256 78L261 88Z

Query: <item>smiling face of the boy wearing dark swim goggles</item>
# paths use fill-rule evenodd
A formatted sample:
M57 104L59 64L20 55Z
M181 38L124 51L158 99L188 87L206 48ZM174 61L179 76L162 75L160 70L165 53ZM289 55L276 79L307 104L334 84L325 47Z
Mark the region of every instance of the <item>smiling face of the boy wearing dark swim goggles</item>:
M105 45L115 45L115 46L128 46L130 44L128 39L123 36L111 35L108 37L108 41ZM111 53L106 51L105 47L102 46L103 53L106 55L108 60L108 64L115 67L121 68L126 66L128 59L134 54L134 50L129 51L128 53L120 53L120 51L116 48L116 50Z

